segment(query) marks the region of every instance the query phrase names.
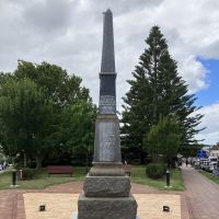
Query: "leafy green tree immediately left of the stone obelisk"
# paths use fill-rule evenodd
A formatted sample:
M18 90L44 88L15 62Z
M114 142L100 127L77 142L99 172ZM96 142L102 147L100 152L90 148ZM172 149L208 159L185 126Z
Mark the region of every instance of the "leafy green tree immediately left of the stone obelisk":
M93 154L96 112L95 105L85 101L78 101L62 111L58 139L72 157L88 161Z

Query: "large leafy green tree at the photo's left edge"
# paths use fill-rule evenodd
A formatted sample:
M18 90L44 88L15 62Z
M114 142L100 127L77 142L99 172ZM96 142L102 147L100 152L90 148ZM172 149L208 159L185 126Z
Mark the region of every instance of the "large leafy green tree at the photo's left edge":
M38 161L45 149L51 105L30 79L10 81L0 90L1 143L10 155L23 152ZM48 149L48 148L47 148Z

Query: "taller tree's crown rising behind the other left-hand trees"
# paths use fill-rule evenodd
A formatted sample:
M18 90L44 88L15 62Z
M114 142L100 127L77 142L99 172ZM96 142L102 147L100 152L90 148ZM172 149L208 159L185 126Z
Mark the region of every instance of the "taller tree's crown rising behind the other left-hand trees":
M48 99L60 110L79 100L90 101L89 90L81 87L82 79L56 65L41 65L19 60L14 77L20 80L28 78L44 89Z

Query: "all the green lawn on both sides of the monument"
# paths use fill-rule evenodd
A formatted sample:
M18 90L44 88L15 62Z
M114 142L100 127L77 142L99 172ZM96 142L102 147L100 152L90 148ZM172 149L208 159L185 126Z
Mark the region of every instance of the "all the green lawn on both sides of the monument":
M85 176L85 168L84 166L73 166L73 174L72 177L65 174L51 174L48 177L45 170L38 172L34 180L31 181L18 181L20 185L18 188L23 189L39 189L45 188L50 185L68 183L72 181L83 181ZM160 180L152 180L146 175L146 166L142 165L132 165L131 169L131 182L149 185L159 189L169 189L169 191L184 191L184 184L181 175L180 170L172 170L171 171L171 188L165 188L165 177ZM10 185L12 184L12 172L8 171L0 174L0 189L11 188Z

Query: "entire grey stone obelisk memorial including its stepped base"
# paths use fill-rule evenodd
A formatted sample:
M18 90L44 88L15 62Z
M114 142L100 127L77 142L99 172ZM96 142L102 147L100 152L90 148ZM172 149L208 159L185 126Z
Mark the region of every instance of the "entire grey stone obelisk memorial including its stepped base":
M113 14L104 12L100 103L95 123L93 168L78 201L78 219L136 219L137 203L123 171L116 115Z

